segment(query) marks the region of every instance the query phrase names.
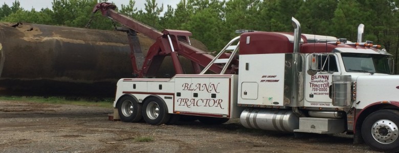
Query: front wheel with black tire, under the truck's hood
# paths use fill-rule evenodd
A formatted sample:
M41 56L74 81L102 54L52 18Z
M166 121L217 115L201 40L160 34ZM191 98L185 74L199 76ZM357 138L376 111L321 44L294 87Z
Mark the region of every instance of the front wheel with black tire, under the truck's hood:
M371 113L362 124L364 142L375 150L399 152L399 111L380 110Z

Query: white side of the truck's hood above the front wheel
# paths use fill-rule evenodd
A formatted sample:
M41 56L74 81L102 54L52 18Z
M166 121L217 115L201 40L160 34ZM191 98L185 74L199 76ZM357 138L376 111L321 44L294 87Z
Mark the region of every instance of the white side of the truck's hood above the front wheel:
M357 109L379 101L399 101L399 75L368 75L356 79Z

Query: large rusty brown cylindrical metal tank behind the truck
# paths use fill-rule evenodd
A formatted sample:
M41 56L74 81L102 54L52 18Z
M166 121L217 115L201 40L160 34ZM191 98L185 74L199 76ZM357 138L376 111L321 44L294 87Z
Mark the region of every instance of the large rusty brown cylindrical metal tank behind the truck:
M146 55L154 40L138 36ZM112 97L117 80L132 77L129 45L123 32L0 23L0 43L3 95ZM161 66L160 77L174 75L168 61L165 59Z

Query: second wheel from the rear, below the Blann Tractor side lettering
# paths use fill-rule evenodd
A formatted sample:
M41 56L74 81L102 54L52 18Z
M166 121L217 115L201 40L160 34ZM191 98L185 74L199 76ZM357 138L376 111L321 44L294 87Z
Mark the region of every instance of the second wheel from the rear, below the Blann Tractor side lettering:
M143 104L143 118L151 125L165 124L170 119L166 104L156 97L150 97Z

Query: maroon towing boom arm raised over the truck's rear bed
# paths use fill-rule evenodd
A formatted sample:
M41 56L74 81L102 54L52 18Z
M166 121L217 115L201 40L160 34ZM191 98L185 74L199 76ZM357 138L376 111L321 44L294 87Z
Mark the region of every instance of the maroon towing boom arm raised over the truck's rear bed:
M146 24L143 24L126 15L118 13L117 11L115 11L115 9L116 6L111 3L99 3L93 9L93 13L100 10L103 16L114 19L117 22L124 24L130 30L137 31L148 36L151 39L156 40L156 42L149 48L141 69L138 69L137 67L137 65L140 65L136 64L137 53L135 52L136 50L134 49L134 47L132 47L132 43L130 43L132 60L131 62L133 65L133 69L135 73L138 74L137 77L139 78L154 77L165 56L171 56L176 74L183 73L183 68L179 61L178 55L181 55L191 60L195 73L200 73L200 66L207 66L214 58L203 50L180 41L180 39L189 41L188 37L191 36L191 32L181 30L164 30L161 33ZM216 64L213 64L209 68L209 70L215 73L220 73L222 69L223 66L219 66ZM231 73L231 71L228 71L226 73L229 72Z

